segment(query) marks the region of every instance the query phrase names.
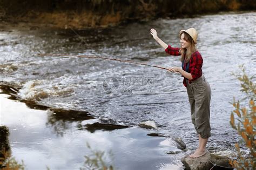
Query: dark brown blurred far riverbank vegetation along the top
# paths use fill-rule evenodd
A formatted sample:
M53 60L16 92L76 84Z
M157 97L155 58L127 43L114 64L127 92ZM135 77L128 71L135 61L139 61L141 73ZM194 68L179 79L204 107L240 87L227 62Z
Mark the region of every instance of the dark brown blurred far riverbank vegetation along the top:
M255 9L255 0L1 0L0 18L84 28Z

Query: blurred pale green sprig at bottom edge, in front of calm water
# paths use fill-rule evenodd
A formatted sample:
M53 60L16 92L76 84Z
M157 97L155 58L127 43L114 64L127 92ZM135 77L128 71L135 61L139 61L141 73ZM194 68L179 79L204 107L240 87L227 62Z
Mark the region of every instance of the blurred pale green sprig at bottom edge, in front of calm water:
M80 168L80 170L86 169L100 169L100 170L113 170L113 166L107 166L103 160L105 152L94 151L91 146L87 144L87 147L91 150L92 156L85 156L84 168Z

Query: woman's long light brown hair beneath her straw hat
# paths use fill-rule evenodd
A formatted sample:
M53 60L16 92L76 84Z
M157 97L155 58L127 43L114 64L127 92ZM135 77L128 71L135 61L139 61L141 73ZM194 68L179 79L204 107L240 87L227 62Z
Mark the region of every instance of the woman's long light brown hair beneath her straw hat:
M188 35L188 33L181 31L179 33L179 38L181 37L181 35L184 33L184 39L186 40L186 42L190 43L190 46L186 49L186 48L180 48L179 53L181 54L181 62L183 62L183 60L185 60L185 63L188 63L190 61L191 55L192 53L197 51L197 47L196 44L194 44L193 39L190 37L190 35Z

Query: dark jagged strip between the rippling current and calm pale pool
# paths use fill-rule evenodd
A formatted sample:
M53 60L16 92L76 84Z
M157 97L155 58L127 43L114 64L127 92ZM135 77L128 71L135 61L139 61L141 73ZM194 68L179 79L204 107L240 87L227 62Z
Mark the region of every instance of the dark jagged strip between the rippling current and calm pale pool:
M97 119L96 123L82 125L82 121L96 119L89 112L77 111L77 110L65 110L63 108L51 108L49 106L39 105L35 101L23 100L18 96L18 89L8 84L2 84L1 93L10 94L8 99L19 100L26 104L29 108L35 110L46 110L47 111L47 122L46 127L51 127L52 130L60 136L63 136L64 131L73 127L76 124L78 130L87 130L91 133L97 130L112 131L121 128L127 128L129 126L116 125L111 119Z

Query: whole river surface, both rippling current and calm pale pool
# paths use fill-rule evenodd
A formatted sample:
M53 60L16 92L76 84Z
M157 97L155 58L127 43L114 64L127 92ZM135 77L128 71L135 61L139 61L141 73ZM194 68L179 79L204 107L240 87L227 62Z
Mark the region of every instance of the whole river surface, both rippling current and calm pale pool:
M124 128L107 133L90 132L87 128L83 128L88 124L88 121L83 121L85 119L68 116L70 112L65 114L65 118L64 115L58 118L55 115L58 114L56 110L56 112L48 110L38 113L42 117L30 120L37 121L31 128L24 127L24 123L18 120L15 124L11 124L11 120L3 119L2 124L9 125L12 154L22 159L25 153L28 155L27 162L33 157L39 157L45 160L39 164L42 169L46 165L49 167L63 165L63 160L70 161L66 167L72 165L79 167L78 164L83 162L83 157L76 159L76 154L80 155L79 151L82 145L85 147L86 139L94 142L92 138L97 138L97 141L102 138L103 140L97 143L97 147L103 150L113 147L119 149L118 151L116 149L113 155L119 155L114 157L114 162L120 169L134 169L134 167L126 161L129 158L117 152L132 155L134 159L138 157L138 161L135 161L137 163L133 162L134 166L139 165L138 162L144 165L160 165L163 163L161 160L164 159L164 164L167 164L167 157L171 158L170 164L176 163L185 153L176 155L164 153L163 156L158 154L161 151L158 148L154 155L150 141L154 140L153 143L158 145L160 141L157 140L160 137L144 138L147 131L136 127L142 121L154 121L157 132L169 135L171 138L179 137L183 139L189 150L196 149L197 135L190 119L190 106L186 89L182 84L183 78L179 74L167 73L154 67L102 59L39 57L37 54L96 55L163 67L180 66L179 57L167 55L150 35L150 29L156 29L159 38L165 43L179 47L179 31L194 27L199 32L197 47L204 59L203 73L212 89L212 137L209 139L207 149L232 156L234 143L239 139L229 123L233 109L230 102L233 101L233 97L239 98L243 94L239 92L239 81L231 73L239 72L238 66L244 64L248 76L255 74L255 25L256 13L253 11L219 13L195 18L158 19L113 28L76 31L69 28L59 30L45 26L30 27L26 23L2 23L0 80L2 84L9 84L18 89L16 98L36 101L49 108L86 113L86 116L90 114L105 125L131 127L131 129ZM1 100L3 103L4 98ZM16 105L18 107L19 104ZM21 117L22 113L16 113L14 116ZM31 114L30 118L26 115L28 119L32 119L33 116L35 115ZM8 117L8 114L5 113L4 117ZM118 128L119 126L113 129ZM35 138L31 133L29 133L30 137L22 135L28 132L34 132ZM101 134L103 132L104 135ZM119 134L118 137L116 133ZM131 140L140 141L139 144L136 143L136 148L141 146L149 151L148 154L143 154L144 158L140 158L140 153L134 150L134 141L123 139L119 140L120 142L113 142L114 138L128 136ZM25 138L30 142L25 142ZM104 139L109 140L104 142ZM62 149L62 152L54 153L53 156L42 147L49 144L53 149L51 152L55 152L55 146L65 148L64 144L68 145L72 141L74 142L72 149ZM123 144L125 142L129 144ZM63 145L58 146L58 143ZM117 146L121 143L122 146ZM34 147L29 147L32 144ZM110 146L112 144L116 146ZM142 152L145 150L139 149ZM60 159L58 154L68 156ZM82 155L86 155L86 152ZM52 158L56 159L55 163ZM24 161L26 162L26 159ZM36 161L29 161L30 167L33 167L33 162ZM138 167L143 168L143 166Z

